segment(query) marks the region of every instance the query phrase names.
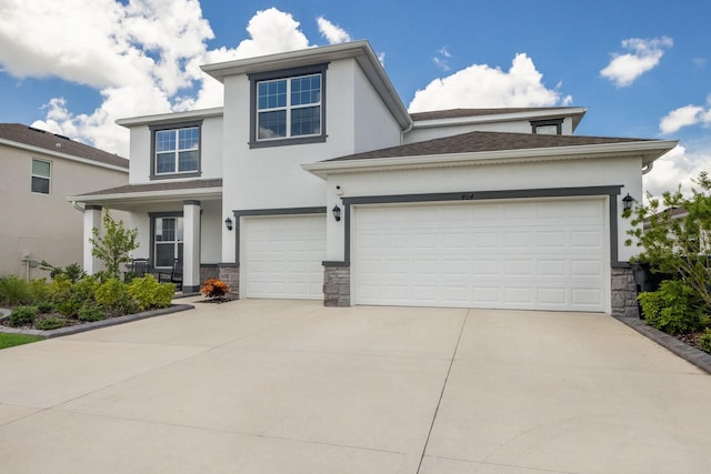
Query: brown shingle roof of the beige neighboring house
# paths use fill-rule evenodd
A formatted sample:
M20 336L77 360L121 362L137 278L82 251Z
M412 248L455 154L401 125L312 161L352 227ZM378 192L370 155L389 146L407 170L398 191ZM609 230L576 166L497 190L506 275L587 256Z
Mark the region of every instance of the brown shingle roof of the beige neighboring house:
M0 139L83 158L98 163L124 168L127 170L129 168L129 161L118 154L108 153L67 137L33 129L21 123L0 123Z

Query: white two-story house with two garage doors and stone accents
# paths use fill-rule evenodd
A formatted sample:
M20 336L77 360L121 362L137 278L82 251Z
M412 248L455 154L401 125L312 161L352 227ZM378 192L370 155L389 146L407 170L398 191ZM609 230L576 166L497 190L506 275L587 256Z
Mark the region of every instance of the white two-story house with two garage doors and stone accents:
M129 211L136 256L180 259L187 291L219 275L327 305L634 306L622 199L674 141L573 135L582 108L408 113L365 41L203 71L223 108L119 121L130 183L74 198L87 226Z

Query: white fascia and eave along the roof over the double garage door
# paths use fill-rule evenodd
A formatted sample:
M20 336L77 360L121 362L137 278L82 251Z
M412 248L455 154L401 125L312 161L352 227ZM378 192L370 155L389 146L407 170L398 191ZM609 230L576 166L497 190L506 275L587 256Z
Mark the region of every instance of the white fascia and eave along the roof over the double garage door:
M508 164L525 161L580 160L604 157L641 157L644 163L657 160L677 145L675 140L551 147L523 150L499 150L419 157L392 157L364 160L321 161L301 168L319 178L329 174L392 171L417 168L472 167Z

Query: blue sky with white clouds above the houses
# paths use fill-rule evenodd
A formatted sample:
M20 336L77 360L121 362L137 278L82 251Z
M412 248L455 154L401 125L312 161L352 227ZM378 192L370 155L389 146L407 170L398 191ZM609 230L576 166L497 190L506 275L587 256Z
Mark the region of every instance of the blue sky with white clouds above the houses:
M575 134L679 140L711 172L711 1L0 0L0 122L129 158L121 118L222 105L201 64L368 40L411 112L584 107Z

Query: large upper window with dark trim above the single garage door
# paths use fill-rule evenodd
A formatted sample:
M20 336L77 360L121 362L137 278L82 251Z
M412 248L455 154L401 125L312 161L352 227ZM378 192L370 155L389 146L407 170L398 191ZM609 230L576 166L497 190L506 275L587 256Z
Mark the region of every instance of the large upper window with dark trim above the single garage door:
M326 141L326 67L250 75L252 148Z

